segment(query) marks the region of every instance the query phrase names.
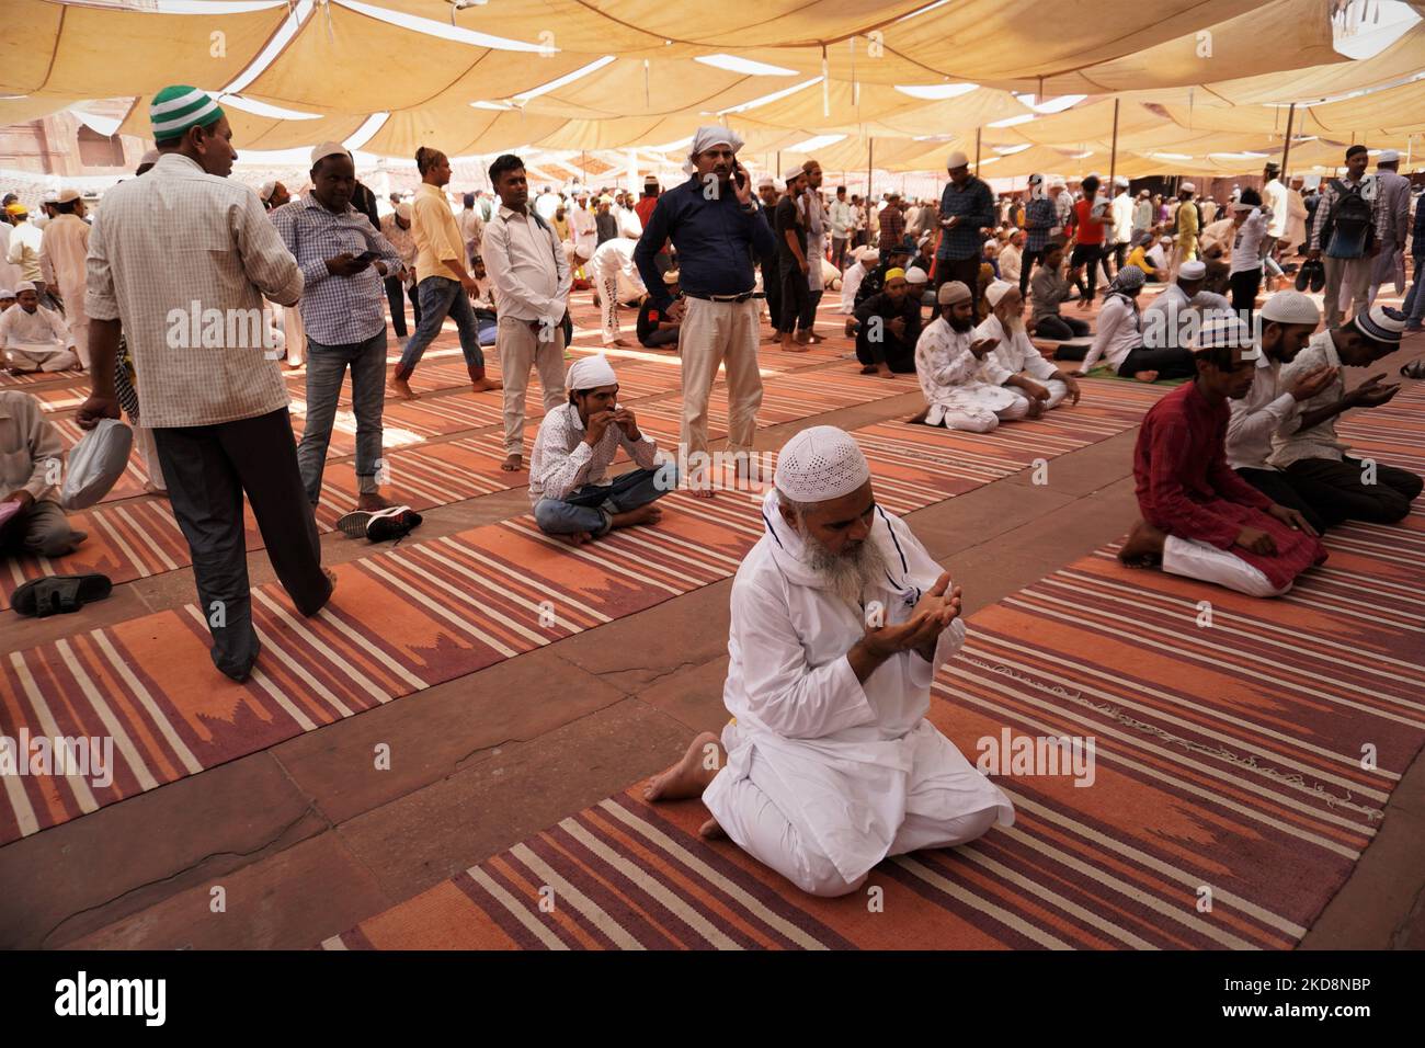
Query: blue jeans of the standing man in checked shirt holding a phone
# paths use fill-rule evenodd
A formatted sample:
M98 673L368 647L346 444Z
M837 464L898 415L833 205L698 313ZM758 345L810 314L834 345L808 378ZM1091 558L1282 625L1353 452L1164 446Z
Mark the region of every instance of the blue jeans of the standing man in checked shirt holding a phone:
M386 405L386 328L365 342L321 345L306 339L306 425L296 448L302 488L314 506L322 496L322 469L332 439L342 378L352 369L352 413L356 416L356 482L375 492L380 463L380 413Z

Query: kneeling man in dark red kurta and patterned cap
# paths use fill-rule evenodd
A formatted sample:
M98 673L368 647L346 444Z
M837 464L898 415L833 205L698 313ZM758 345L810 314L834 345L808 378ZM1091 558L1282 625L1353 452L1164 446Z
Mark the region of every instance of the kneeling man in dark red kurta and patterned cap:
M1227 466L1227 402L1251 389L1257 355L1248 327L1230 314L1203 324L1197 378L1159 401L1133 452L1143 519L1119 550L1126 565L1216 582L1238 593L1281 596L1327 559L1307 519Z

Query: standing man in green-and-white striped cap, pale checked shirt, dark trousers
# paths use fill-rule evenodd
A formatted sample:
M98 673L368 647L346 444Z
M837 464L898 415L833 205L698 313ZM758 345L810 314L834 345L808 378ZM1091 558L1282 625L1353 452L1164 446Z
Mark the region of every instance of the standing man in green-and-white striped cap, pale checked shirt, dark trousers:
M286 385L266 355L261 322L264 295L281 305L301 298L302 271L258 195L227 181L237 153L218 104L192 87L167 87L154 96L150 118L158 163L105 194L90 235L84 312L93 369L78 423L93 429L118 418L114 356L124 334L141 421L154 431L192 553L212 662L242 682L261 649L244 493L298 612L316 615L336 579L322 570Z

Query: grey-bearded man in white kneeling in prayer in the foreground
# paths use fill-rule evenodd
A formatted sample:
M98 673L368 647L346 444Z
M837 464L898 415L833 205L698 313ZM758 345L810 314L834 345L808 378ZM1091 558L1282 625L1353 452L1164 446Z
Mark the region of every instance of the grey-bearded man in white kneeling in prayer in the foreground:
M725 833L814 895L856 891L886 856L1010 826L1009 798L926 720L935 672L965 642L960 590L876 506L856 442L812 426L782 448L767 530L732 582L724 703L653 779L701 797Z

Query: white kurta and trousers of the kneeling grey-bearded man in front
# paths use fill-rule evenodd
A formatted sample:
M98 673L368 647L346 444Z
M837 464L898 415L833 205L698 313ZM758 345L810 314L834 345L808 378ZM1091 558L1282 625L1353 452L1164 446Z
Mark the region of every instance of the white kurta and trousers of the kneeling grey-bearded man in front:
M831 596L802 560L801 538L762 503L767 532L732 583L722 733L727 766L703 794L728 837L798 887L854 891L886 856L973 840L1012 826L1009 798L925 714L935 670L959 652L965 623L940 635L933 664L906 652L864 683L846 652L865 613ZM868 542L888 565L886 625L903 623L940 575L911 529L875 510Z

